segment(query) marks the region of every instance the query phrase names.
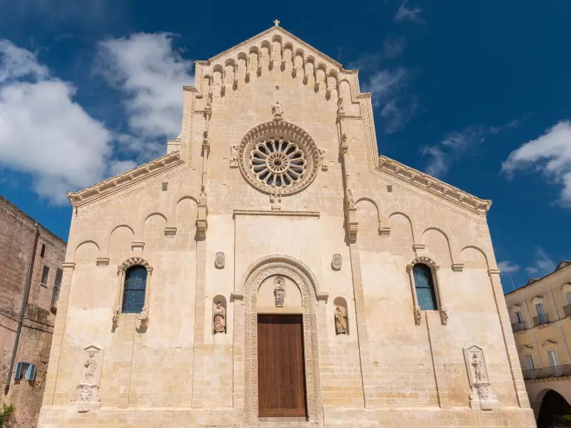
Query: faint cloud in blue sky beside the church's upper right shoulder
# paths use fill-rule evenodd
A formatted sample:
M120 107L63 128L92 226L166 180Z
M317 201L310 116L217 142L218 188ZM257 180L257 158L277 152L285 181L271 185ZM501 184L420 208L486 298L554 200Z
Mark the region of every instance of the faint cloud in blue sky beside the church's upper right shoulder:
M363 85L365 91L373 93L373 108L380 109L380 116L385 122L385 133L403 129L418 108L416 98L403 95L409 78L408 71L400 67L377 71Z

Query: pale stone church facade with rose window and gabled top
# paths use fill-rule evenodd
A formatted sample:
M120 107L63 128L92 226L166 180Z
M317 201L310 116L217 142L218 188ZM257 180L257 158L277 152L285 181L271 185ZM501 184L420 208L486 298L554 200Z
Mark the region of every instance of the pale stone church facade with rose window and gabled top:
M280 26L74 206L40 427L534 427L482 200Z

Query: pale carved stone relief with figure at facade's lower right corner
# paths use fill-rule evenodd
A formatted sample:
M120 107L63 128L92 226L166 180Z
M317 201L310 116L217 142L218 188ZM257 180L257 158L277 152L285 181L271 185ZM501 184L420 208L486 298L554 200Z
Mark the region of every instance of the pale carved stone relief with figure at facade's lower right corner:
M490 384L482 348L476 345L464 348L464 358L470 380L470 408L482 410L499 408L500 402Z

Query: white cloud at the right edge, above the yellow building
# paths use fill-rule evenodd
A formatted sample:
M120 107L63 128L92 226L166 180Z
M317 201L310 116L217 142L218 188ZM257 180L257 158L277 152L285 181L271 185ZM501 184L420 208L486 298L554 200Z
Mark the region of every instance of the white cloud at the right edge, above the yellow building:
M571 208L571 122L560 121L540 138L510 153L501 173L510 179L517 170L535 168L547 180L562 185L559 202Z

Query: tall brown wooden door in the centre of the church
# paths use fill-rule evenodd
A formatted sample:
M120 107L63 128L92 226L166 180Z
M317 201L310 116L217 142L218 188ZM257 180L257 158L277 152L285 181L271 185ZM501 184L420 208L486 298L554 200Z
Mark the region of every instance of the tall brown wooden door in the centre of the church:
M258 315L258 415L307 415L301 315Z

